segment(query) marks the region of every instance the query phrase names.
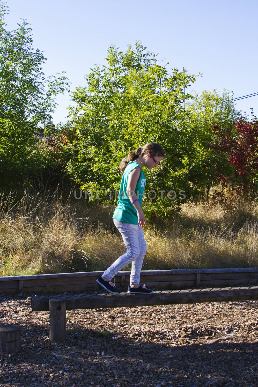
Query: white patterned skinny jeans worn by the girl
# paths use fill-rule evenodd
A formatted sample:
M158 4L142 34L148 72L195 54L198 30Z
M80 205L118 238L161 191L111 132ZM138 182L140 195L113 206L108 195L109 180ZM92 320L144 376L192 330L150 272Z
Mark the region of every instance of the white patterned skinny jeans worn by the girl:
M111 281L118 271L126 265L132 263L130 284L138 285L140 283L140 273L142 262L147 250L142 227L137 224L122 223L113 219L114 225L122 235L125 243L126 252L121 255L114 263L104 271L103 277Z

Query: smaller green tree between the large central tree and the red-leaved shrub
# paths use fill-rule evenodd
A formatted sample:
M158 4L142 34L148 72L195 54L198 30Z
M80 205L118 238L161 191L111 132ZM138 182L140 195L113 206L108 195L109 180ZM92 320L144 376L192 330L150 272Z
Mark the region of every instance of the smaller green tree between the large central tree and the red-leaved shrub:
M234 107L230 91L216 89L196 94L187 104L185 125L191 132L194 152L185 159L189 180L199 192L208 195L211 184L216 184L218 171L229 173L226 155L215 151L214 128L222 127L234 136L235 122L240 114Z

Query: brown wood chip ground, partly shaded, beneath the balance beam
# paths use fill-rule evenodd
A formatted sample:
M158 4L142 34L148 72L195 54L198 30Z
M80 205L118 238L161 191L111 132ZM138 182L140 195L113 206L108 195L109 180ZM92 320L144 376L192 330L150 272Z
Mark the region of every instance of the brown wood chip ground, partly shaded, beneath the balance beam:
M22 345L0 353L0 386L258 386L258 301L69 310L55 343L29 296L0 295Z

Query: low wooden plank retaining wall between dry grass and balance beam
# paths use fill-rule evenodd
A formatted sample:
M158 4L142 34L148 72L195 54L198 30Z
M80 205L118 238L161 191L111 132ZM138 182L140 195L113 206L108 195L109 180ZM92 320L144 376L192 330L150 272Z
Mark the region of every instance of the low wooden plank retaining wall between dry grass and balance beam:
M100 289L96 283L103 271L35 276L0 277L0 293L64 293ZM128 286L130 271L120 271L116 287ZM141 283L157 289L192 289L258 285L258 267L237 269L147 270L141 272Z

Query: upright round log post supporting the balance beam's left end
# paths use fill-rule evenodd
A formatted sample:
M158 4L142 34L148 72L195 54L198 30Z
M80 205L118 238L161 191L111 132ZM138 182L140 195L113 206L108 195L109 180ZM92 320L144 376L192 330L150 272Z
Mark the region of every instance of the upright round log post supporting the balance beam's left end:
M65 341L66 339L66 301L64 298L49 300L50 341Z

